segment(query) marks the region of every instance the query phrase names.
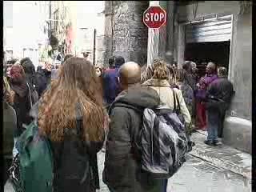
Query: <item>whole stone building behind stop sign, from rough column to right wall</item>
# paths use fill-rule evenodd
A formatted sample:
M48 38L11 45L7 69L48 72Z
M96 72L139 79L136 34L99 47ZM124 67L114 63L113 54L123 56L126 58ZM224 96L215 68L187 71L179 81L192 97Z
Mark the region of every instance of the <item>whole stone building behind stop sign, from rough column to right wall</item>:
M149 5L160 5L166 10L166 26L160 30L147 30L142 22L142 14ZM207 43L225 46L227 43L226 67L229 69L228 78L234 84L235 95L226 113L222 141L251 153L251 2L106 2L105 14L105 63L111 55L118 54L126 61L140 65L147 61L147 65L150 65L154 58L165 57L168 52L168 62L176 61L178 67L182 67L188 58L188 46L197 43L198 46ZM194 32L189 29L194 29ZM216 47L220 46L215 46L210 52L215 52L217 58L221 58L224 53ZM193 49L189 51L192 53ZM202 56L200 52L199 56ZM217 64L223 66L218 59Z

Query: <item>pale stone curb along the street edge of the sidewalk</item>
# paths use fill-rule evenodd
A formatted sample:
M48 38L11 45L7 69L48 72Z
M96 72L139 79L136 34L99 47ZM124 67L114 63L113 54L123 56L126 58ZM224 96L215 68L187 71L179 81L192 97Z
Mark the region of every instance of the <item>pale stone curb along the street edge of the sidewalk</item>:
M199 134L202 134L198 131ZM248 171L243 166L238 166L235 163L232 162L226 162L220 158L214 158L210 155L206 155L204 151L198 150L196 146L193 147L193 150L190 151L190 155L201 158L202 160L205 160L206 162L210 162L214 166L221 167L224 170L230 170L231 172L234 172L235 174L242 175L248 182L251 182L251 170Z

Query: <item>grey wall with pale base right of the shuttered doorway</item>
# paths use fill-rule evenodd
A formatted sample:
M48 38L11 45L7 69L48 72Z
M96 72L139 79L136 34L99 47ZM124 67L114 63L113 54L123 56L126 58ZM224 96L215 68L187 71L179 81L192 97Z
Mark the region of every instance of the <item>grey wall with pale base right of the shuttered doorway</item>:
M234 117L226 118L223 142L251 154L252 7L248 13L234 15L233 22L230 80L236 93L230 109Z

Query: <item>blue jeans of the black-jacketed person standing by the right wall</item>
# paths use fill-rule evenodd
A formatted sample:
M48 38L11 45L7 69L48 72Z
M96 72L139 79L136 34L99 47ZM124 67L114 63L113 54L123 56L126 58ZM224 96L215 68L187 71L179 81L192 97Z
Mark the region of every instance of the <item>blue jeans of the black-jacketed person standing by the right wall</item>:
M207 140L209 142L218 142L218 126L220 125L221 115L218 108L210 107L207 112Z

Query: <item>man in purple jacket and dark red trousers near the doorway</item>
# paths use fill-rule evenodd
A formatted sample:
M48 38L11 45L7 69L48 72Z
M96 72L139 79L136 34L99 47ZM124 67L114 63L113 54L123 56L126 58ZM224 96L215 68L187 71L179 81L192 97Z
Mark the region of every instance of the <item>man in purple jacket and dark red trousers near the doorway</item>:
M202 77L197 84L196 102L197 102L197 126L200 130L206 130L206 90L211 82L218 78L216 65L209 62L206 66L206 76Z

